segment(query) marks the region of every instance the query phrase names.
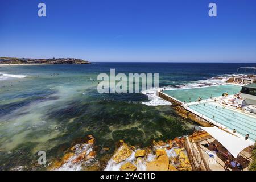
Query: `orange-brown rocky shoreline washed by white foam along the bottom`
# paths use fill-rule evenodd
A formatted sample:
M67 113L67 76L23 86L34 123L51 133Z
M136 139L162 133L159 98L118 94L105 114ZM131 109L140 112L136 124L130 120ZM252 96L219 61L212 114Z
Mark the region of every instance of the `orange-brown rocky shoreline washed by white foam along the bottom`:
M92 135L85 143L75 144L48 166L48 170L106 170L106 171L191 171L184 148L184 137L153 141L148 147L135 147L119 140L113 155L96 159L109 147L98 148Z

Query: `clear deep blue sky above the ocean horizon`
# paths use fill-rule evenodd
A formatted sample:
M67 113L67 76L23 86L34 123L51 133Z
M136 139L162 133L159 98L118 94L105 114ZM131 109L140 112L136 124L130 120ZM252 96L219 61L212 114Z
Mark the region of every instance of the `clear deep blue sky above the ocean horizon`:
M256 62L256 1L0 0L0 56Z

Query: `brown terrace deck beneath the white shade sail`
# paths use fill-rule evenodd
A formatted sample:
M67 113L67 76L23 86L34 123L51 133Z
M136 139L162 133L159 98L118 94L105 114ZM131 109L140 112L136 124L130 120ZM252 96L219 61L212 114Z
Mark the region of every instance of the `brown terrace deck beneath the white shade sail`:
M216 143L221 152L214 152L212 146L205 147L204 144L206 143ZM184 146L194 171L225 171L224 166L227 159L225 153L228 150L207 132L196 131L185 139ZM214 158L209 156L209 152L214 154ZM239 161L243 166L243 171L247 171L248 165L251 162L250 156L251 152L248 147L241 151L236 159L232 156L229 156L229 158L233 161ZM230 168L229 166L226 171L237 171L237 168Z

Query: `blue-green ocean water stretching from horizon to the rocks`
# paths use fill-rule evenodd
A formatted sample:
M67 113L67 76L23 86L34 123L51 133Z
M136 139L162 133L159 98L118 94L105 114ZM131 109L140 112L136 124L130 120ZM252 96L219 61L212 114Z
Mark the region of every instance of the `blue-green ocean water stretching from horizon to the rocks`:
M96 160L113 154L122 139L148 146L153 139L188 135L194 123L179 117L156 89L139 94L99 94L97 75L159 73L160 89L222 84L238 63L93 63L85 65L0 66L0 170L46 169L73 144L92 134L99 148ZM100 148L110 147L101 154ZM102 164L104 166L104 164Z

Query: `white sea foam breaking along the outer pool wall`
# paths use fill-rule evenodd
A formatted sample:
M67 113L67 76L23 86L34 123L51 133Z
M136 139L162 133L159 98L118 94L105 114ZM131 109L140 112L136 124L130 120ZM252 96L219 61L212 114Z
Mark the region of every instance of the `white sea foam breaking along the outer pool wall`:
M196 88L196 87L203 87L203 86L221 85L221 84L225 84L225 81L230 76L236 76L236 74L225 74L225 75L219 75L217 77L208 78L205 80L197 80L197 81L179 84L179 85L170 85L170 86L164 86L160 88L151 88L142 92L142 94L145 94L146 96L148 96L148 100L150 100L147 102L142 102L142 104L148 105L148 106L171 105L171 102L163 100L162 98L156 95L157 90L172 90L175 88Z

